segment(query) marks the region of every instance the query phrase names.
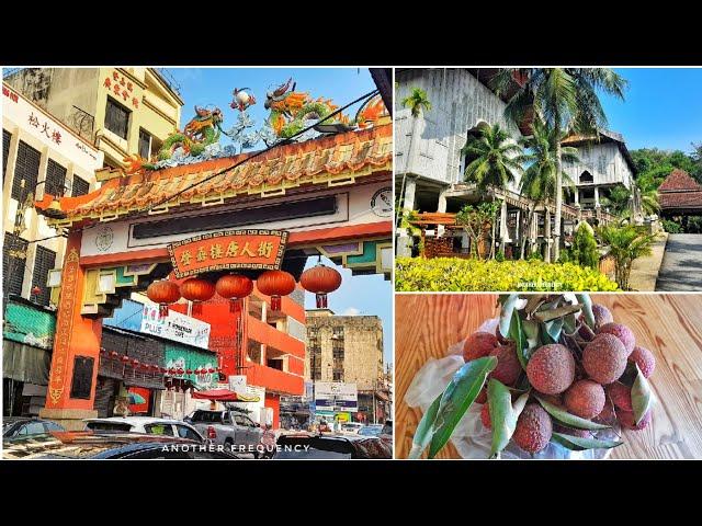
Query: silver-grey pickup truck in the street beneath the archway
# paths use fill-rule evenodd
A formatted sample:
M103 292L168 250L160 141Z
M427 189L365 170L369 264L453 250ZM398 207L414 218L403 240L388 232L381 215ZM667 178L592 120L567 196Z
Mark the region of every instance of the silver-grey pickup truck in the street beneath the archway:
M258 446L261 444L263 430L244 413L229 409L199 409L188 418L188 422L213 444L222 444L228 450L259 456Z

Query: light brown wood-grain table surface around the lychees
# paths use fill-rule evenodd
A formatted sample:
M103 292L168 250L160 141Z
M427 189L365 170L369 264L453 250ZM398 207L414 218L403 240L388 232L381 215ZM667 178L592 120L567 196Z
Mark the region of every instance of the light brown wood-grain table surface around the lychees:
M656 356L650 378L657 402L652 424L625 431L615 459L702 458L702 295L592 294L637 344ZM405 403L415 374L429 358L497 316L492 294L397 294L395 299L395 455L407 458L421 411ZM449 443L438 458L460 458Z

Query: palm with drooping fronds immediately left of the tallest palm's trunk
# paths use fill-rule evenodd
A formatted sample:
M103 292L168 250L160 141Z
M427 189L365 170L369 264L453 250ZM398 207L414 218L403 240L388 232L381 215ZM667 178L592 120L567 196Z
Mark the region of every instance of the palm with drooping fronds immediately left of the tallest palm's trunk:
M531 164L524 171L519 191L522 195L534 201L534 207L529 210L528 225L531 225L533 220L535 206L545 205L556 196L556 150L563 138L563 135L557 136L554 129L547 128L541 118L536 117L532 125L532 135L521 140L524 148L529 150L529 153L524 155L524 161ZM561 158L565 162L578 162L577 153L577 148L561 147ZM566 172L563 172L561 176L565 183L566 192L575 188L575 182ZM525 245L526 238L522 237L521 259L524 259ZM551 254L547 252L545 261L550 260Z

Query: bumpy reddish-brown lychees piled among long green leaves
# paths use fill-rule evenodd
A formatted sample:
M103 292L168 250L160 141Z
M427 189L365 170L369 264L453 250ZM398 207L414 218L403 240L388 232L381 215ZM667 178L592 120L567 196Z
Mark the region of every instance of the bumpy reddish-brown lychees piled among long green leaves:
M537 453L551 442L554 432L580 438L593 438L592 432L564 425L553 419L536 397L559 410L596 423L623 428L643 430L650 423L650 409L636 423L632 405L632 385L636 366L648 378L656 361L647 348L636 345L632 330L615 323L610 310L592 304L595 330L579 318L575 339L537 346L529 356L525 376L531 392L521 411L511 439L524 451ZM573 344L569 344L573 342ZM464 344L463 357L472 361L497 357L497 367L489 374L503 385L524 389L523 367L516 344L500 334L476 332ZM519 381L519 386L518 386ZM480 419L491 427L487 390L476 399L483 403Z

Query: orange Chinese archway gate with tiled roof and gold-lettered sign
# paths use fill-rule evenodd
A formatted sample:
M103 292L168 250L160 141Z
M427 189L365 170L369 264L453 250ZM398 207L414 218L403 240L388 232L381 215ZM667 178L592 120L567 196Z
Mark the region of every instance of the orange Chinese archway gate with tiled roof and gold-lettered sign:
M68 236L64 267L50 283L58 310L42 415L67 428L97 415L102 318L156 279L207 275L226 263L252 279L280 268L299 281L307 259L319 254L354 274L389 277L392 135L386 118L280 146L236 168L246 153L131 175L105 170L98 191L57 199L61 217L50 214L54 196L36 202ZM177 195L215 171L222 173ZM177 197L163 202L170 195Z

